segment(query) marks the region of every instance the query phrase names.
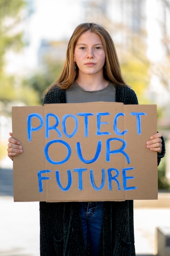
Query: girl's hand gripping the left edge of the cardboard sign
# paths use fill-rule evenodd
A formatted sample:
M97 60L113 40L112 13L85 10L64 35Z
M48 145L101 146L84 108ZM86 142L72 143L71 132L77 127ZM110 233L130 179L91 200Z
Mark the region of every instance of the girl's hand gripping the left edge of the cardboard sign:
M22 146L20 145L20 141L12 137L12 132L9 132L9 135L11 137L8 139L9 144L7 151L9 158L13 159L15 155L19 155L20 153L22 153Z

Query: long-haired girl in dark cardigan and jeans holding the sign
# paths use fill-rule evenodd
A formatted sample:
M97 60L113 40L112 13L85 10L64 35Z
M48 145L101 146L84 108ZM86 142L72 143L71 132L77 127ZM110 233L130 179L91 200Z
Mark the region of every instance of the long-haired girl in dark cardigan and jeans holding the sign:
M110 34L95 23L80 24L68 43L60 78L44 92L43 104L91 101L138 104L135 92L121 76ZM22 153L10 133L8 156ZM140 145L139 145L140 147ZM158 164L165 154L161 133L146 142L157 151ZM41 256L135 256L133 201L40 202Z

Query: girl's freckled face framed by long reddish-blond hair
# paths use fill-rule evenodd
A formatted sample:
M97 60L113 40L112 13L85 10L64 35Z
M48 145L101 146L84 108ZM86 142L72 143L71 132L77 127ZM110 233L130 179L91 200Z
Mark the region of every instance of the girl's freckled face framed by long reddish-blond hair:
M86 31L84 32L75 45L74 61L81 74L93 75L101 73L105 63L105 52L102 40L98 34Z

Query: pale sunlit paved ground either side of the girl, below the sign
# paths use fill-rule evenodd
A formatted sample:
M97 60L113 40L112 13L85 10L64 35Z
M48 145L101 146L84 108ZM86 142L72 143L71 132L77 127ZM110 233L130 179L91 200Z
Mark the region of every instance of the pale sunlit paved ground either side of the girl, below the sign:
M166 201L169 198L168 193ZM156 255L157 227L170 226L170 200L167 201L168 204L157 203L157 205L150 201L146 204L135 202L134 225L137 256ZM156 201L159 202L160 199ZM0 256L39 256L39 231L39 203L14 203L12 170L1 168Z

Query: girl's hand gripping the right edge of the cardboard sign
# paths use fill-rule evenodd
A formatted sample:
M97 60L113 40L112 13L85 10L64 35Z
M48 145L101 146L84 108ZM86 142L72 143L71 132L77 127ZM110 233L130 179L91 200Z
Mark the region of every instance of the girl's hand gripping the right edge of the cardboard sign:
M161 132L157 132L156 134L150 137L150 140L146 142L146 147L152 151L157 151L161 153L162 151L162 140L161 140Z

